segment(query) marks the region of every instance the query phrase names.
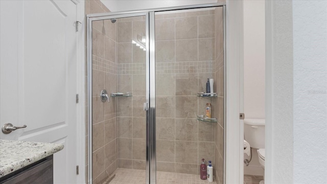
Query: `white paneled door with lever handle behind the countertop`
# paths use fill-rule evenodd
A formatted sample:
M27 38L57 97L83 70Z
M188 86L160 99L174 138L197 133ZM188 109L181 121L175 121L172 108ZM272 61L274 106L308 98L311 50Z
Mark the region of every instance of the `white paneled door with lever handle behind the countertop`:
M55 183L76 183L75 3L0 1L0 125L27 125L0 139L62 143Z

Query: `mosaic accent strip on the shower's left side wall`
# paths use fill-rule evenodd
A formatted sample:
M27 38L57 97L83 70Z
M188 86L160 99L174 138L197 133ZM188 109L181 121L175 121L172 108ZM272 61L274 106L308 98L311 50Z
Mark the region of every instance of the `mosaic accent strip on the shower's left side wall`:
M101 57L92 55L92 68L102 72L117 74L117 64Z

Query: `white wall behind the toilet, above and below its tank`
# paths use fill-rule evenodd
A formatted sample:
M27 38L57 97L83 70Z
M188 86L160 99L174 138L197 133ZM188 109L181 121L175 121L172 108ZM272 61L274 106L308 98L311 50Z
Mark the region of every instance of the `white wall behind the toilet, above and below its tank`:
M245 118L265 118L265 1L244 1L244 113ZM251 146L251 145L250 145ZM250 156L244 154L244 159ZM263 175L258 153L244 164L244 174Z

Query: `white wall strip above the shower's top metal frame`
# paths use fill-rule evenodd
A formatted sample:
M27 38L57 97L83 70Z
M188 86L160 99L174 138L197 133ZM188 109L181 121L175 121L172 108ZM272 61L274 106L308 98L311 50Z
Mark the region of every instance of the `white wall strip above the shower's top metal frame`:
M111 12L217 3L217 0L100 0Z

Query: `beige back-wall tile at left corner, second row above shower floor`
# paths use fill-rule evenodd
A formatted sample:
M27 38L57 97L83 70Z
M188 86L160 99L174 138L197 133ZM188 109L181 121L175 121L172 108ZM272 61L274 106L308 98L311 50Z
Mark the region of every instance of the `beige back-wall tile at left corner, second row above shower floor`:
M117 158L132 159L132 139L117 138ZM118 167L121 168L120 161Z

